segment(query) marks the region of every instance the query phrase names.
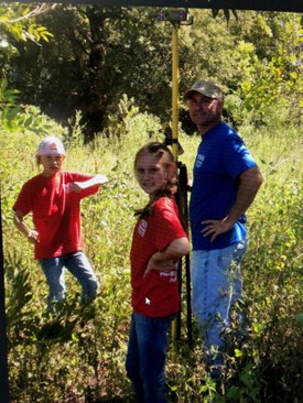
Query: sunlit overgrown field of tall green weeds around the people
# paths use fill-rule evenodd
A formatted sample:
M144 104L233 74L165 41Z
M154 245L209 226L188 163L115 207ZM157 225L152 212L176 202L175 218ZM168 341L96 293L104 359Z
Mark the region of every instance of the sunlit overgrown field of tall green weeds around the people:
M79 287L68 280L65 313L51 317L46 284L32 246L13 227L13 202L21 185L37 173L39 134L0 131L1 205L6 270L7 331L12 403L133 402L125 358L130 319L129 250L133 209L145 195L136 184L136 151L151 139L164 140L159 122L133 113L112 122L110 135L84 144L56 124L43 127L64 139L66 170L106 174L111 181L83 203L86 252L100 279L97 301L78 304ZM44 131L45 131L44 130ZM302 129L239 128L264 176L248 213L249 249L242 264L248 336L230 349L226 378L215 385L201 362L193 319L187 345L183 286L181 339L171 342L167 380L173 402L303 401ZM191 176L198 137L180 133Z

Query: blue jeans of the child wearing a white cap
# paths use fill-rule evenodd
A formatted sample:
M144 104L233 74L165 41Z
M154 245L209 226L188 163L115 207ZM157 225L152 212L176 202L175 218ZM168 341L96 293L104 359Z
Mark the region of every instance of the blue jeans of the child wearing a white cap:
M82 251L68 253L57 258L40 260L42 270L50 287L48 307L52 302L62 302L65 298L65 268L78 280L82 285L82 302L93 301L98 292L98 279Z

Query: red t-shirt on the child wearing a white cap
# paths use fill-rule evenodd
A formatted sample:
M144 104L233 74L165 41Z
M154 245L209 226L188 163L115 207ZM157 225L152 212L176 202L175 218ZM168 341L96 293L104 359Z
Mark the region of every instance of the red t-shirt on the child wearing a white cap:
M83 249L80 228L80 200L98 192L91 186L82 192L71 192L68 184L91 178L75 172L62 172L53 177L42 175L28 181L13 205L23 216L33 215L40 241L35 243L35 259L47 259Z

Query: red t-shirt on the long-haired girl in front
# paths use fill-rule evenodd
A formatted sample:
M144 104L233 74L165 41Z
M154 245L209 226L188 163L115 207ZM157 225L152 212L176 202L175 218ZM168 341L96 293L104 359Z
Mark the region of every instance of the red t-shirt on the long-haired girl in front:
M180 222L174 198L160 198L150 216L139 218L130 252L132 307L138 314L161 317L178 312L178 261L170 272L152 270L147 277L143 273L155 252L163 251L172 241L183 237L186 233Z

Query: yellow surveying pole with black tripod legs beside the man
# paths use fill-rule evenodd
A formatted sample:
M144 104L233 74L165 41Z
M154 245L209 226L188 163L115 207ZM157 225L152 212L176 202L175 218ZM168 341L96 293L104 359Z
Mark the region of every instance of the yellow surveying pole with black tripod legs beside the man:
M182 190L182 198L187 217L187 171L185 164L177 162L177 155L183 152L178 143L178 30L181 25L191 25L193 18L188 15L187 9L169 9L162 10L159 14L161 21L170 21L173 25L172 30L172 133L171 144L173 155L178 167L178 183ZM165 133L167 129L164 128ZM185 275L186 275L186 306L187 306L187 341L192 346L192 307L191 307L191 274L190 274L190 255L185 258ZM180 261L177 277L180 284L180 297L182 297L182 260ZM173 340L181 338L181 309L176 320L172 325ZM175 346L175 345L174 345Z

